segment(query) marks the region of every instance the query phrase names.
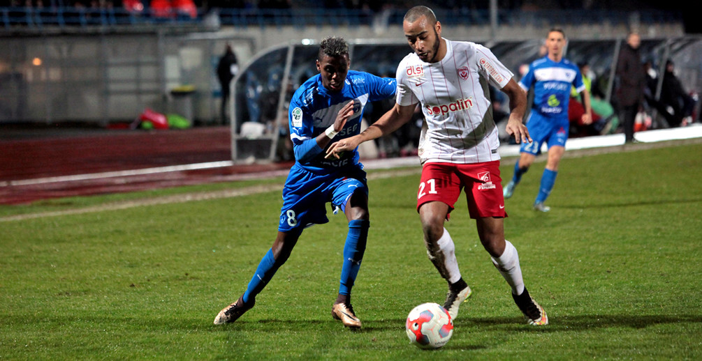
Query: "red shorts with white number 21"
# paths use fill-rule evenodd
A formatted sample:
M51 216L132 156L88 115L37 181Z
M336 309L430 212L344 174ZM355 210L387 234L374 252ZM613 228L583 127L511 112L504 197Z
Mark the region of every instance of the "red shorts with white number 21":
M417 192L417 211L424 203L439 201L449 205L451 212L464 188L470 218L507 217L500 161L426 163Z

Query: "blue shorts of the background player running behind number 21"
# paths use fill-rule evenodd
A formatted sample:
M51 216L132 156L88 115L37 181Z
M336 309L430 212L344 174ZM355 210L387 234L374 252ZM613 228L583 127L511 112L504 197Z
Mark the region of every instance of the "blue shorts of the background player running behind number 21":
M544 143L548 144L549 149L556 145L560 147L566 146L569 122L568 118L548 118L536 113L536 111L531 111L527 120L527 130L529 130L532 142L522 143L522 147L519 147L519 152L538 156L541 154L541 146Z

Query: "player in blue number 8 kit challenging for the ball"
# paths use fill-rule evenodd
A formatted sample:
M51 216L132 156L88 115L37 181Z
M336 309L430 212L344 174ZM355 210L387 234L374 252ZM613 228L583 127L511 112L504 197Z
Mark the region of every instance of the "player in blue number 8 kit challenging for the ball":
M370 226L366 172L359 163L357 149L333 160L324 158L324 149L359 134L366 104L394 96L397 81L349 70L349 64L346 41L324 39L317 55L319 74L293 94L288 122L296 162L283 188L278 234L246 292L220 311L214 320L216 325L234 322L253 307L256 295L288 259L303 229L329 222L325 205L331 203L334 213L342 210L346 214L349 227L338 297L331 314L346 327L361 327L351 306L351 288L366 250Z

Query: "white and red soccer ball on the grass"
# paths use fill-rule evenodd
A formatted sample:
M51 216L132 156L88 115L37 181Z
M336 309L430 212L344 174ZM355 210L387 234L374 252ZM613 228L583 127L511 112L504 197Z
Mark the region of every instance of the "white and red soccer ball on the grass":
M453 321L446 308L429 302L410 311L405 331L418 348L439 348L451 339Z

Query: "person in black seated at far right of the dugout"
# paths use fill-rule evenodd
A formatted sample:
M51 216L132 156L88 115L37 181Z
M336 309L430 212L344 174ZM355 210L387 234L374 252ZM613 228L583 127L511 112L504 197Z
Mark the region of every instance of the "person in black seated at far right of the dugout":
M661 102L666 109L670 107L672 117L668 120L671 127L687 125L692 122L692 109L695 101L682 87L680 79L675 76L673 61L665 62L663 73L663 88L661 89Z

